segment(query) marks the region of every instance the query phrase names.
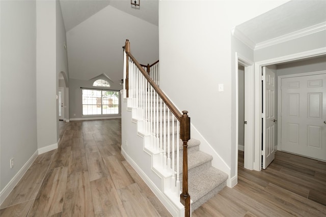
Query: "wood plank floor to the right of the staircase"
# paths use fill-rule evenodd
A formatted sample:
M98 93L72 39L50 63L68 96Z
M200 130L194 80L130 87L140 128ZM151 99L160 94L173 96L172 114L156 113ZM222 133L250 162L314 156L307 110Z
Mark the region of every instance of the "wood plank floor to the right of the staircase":
M326 216L326 163L277 151L266 170L243 168L238 184L224 188L193 212L197 216Z

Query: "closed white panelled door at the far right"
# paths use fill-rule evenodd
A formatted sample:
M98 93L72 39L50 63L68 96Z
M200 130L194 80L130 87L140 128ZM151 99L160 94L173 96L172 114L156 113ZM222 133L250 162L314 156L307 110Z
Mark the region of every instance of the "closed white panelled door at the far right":
M326 160L326 74L282 79L281 150Z

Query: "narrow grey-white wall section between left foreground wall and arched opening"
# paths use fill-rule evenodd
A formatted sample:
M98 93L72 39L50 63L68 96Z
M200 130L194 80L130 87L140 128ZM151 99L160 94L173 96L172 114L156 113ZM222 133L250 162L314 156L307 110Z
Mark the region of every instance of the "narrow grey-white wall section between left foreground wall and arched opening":
M57 144L56 1L36 2L38 148Z

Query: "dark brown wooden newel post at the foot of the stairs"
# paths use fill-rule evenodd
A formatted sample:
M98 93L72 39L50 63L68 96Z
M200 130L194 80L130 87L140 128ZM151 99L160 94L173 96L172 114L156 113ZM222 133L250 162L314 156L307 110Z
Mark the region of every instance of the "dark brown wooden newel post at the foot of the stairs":
M184 216L190 216L190 195L188 194L188 140L190 139L190 117L182 111L180 121L180 139L183 141L182 193L180 202L184 205Z

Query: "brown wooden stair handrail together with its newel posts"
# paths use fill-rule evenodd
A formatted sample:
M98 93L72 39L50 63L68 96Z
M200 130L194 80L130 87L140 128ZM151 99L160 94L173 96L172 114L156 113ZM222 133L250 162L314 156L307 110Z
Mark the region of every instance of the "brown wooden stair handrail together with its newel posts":
M148 83L154 88L156 93L159 95L162 101L168 106L168 108L171 110L171 112L174 114L174 116L180 121L180 139L183 142L183 165L182 165L182 193L180 194L180 202L184 205L184 216L189 217L190 216L190 206L191 206L191 199L190 195L188 194L188 140L190 139L190 117L188 116L188 111L182 111L182 114L179 112L179 110L175 107L175 105L169 100L169 98L164 94L164 92L158 87L158 85L153 81L153 79L149 76L148 73L145 72L143 69L144 65L141 65L138 63L138 61L132 56L130 53L130 43L129 40L126 40L125 43L125 52L127 55L126 58L126 66L127 66L127 75L126 75L126 91L127 91L127 97L128 97L128 89L127 89L127 82L128 82L128 63L130 58L134 65L137 66L137 68L140 70L140 72L143 74L143 76L146 78ZM152 64L155 65L158 63L158 60ZM147 69L151 66L149 64L147 66Z

